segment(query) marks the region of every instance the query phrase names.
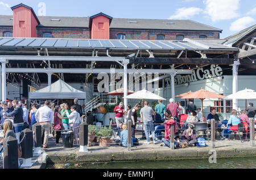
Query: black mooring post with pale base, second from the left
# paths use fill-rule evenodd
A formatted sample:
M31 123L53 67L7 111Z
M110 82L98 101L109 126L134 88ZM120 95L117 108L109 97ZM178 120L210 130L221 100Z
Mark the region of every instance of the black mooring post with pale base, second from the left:
M20 133L23 163L20 167L31 167L33 157L33 131L26 128Z

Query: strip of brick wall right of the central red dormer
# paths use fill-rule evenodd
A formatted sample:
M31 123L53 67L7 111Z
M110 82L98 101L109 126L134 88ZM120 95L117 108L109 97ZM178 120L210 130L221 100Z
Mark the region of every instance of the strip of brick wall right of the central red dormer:
M219 32L209 31L162 31L162 30L134 30L134 29L110 29L110 39L116 39L118 33L124 33L127 40L156 40L158 34L165 35L165 40L176 40L176 35L184 38L199 38L205 35L207 38L220 38Z

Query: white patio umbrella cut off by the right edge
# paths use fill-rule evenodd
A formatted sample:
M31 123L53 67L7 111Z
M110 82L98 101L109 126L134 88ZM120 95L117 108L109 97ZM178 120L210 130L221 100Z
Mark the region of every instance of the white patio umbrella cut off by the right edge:
M241 91L237 91L236 93L233 93L231 95L228 95L226 99L245 99L245 109L247 108L247 99L256 99L256 92L253 89L243 89Z

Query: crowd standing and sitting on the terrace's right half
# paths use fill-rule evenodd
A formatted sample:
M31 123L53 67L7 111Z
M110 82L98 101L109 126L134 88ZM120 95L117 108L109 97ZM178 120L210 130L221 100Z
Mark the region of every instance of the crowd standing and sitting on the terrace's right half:
M187 107L183 108L181 102L174 101L170 98L170 104L167 106L163 104L162 100L159 100L155 109L152 109L148 101L144 101L144 107L141 108L141 102L136 104L133 108L130 105L126 107L127 110L123 108L123 103L120 102L118 106L115 106L115 122L117 123L115 139L116 142L120 142L123 146L127 147L127 138L121 139L121 134L123 129L125 131L125 137L127 136L127 120L131 120L131 138L135 139L135 128L137 125L138 114L137 111L140 110L141 119L143 122L143 131L146 136L147 144L162 143L161 145L167 145L170 147L170 125L175 126L175 146L176 147L187 147L188 145L195 146L197 143L195 124L198 122L207 122L208 128L210 128L210 120L214 119L217 122L218 130L222 133L220 134L222 140L229 140L229 134L233 131L238 130L238 124L244 123L244 133L247 138L249 136L249 118L254 118L256 109L252 103L249 103L249 107L246 110L242 110L240 115L238 115L237 110L232 110L229 120L220 121L217 111L215 108L210 109L210 113L207 115L206 120L201 113L201 108L197 108L193 104L192 100L189 100ZM186 114L187 112L187 114ZM181 126L181 114L187 117ZM125 128L123 128L125 126ZM162 131L164 131L164 138L162 138ZM180 137L181 132L181 137ZM204 132L203 132L204 133ZM152 141L151 141L152 138ZM125 140L125 142L122 142ZM134 141L133 141L134 142Z

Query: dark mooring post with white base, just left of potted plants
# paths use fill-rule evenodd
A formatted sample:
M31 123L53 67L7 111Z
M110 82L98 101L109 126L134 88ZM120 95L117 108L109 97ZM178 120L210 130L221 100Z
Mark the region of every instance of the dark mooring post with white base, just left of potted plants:
M79 144L79 152L88 152L86 146L88 144L88 124L85 122L82 122L79 126Z

